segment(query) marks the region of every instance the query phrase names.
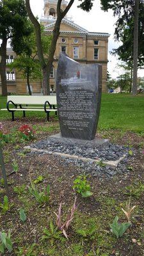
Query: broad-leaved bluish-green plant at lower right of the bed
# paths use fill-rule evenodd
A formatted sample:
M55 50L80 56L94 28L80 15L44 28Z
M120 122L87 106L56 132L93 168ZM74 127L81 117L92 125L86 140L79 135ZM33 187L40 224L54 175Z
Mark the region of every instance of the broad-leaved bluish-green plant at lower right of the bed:
M109 226L111 227L111 230L113 232L113 234L115 234L115 236L118 237L122 237L123 234L125 233L125 231L127 230L127 228L129 228L129 226L131 225L131 222L127 222L127 223L118 223L118 216L115 217L115 220L113 221L112 224L109 224Z

